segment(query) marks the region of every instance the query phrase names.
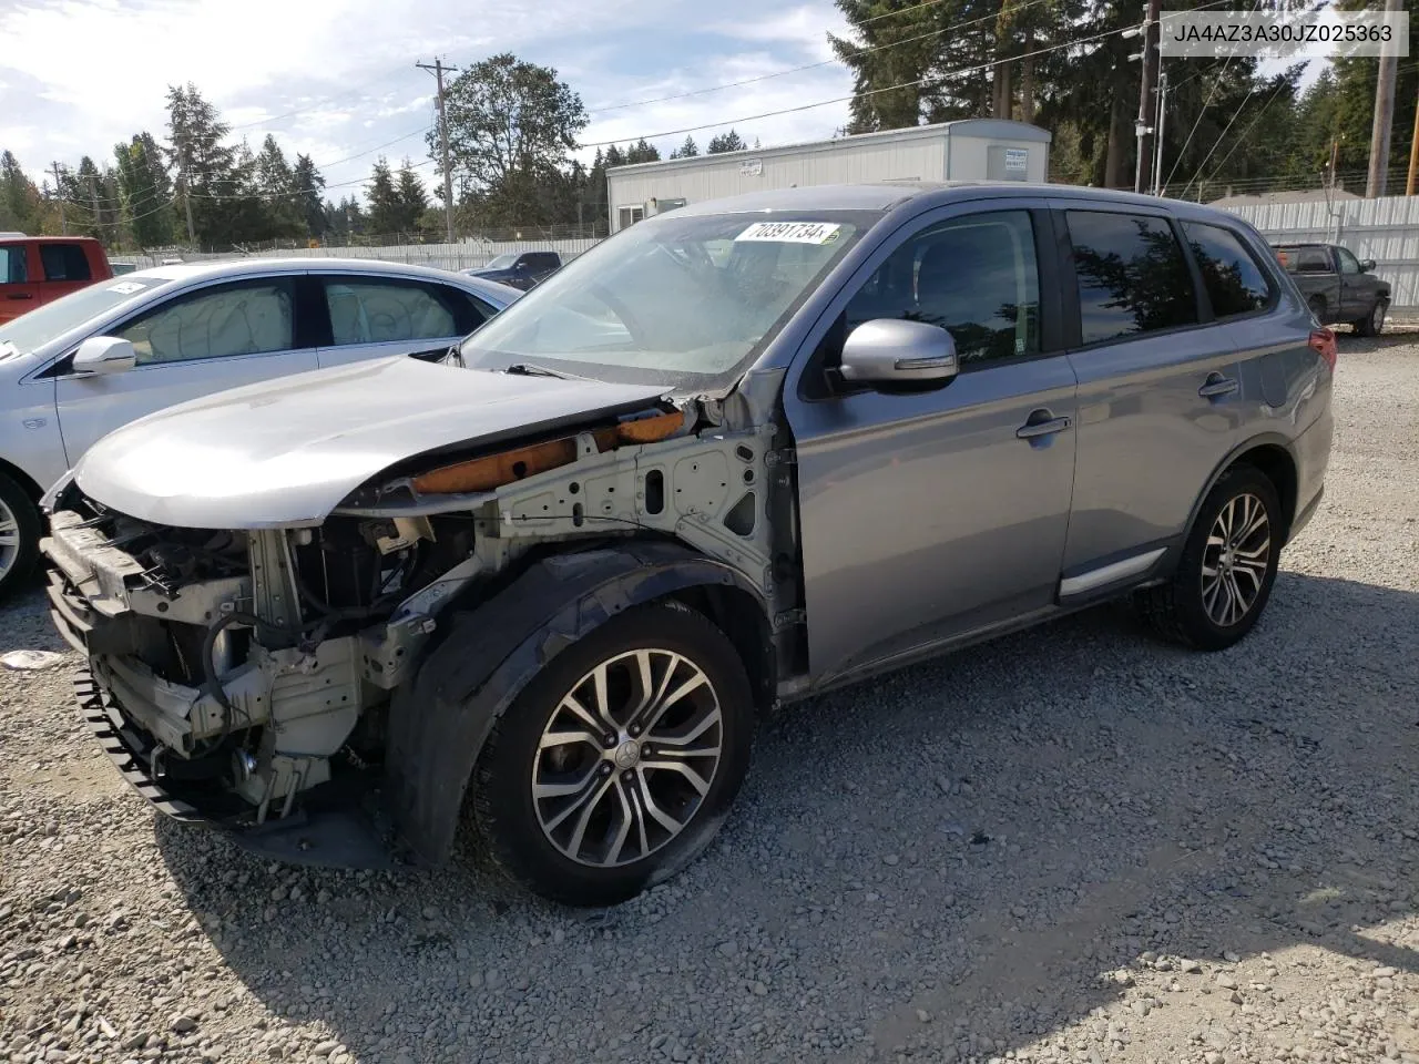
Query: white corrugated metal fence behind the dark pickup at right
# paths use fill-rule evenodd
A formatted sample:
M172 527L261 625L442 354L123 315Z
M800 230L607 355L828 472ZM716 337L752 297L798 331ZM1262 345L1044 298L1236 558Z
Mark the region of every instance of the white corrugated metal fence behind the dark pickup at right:
M1226 210L1256 226L1273 244L1342 244L1357 258L1374 258L1375 272L1389 282L1392 308L1419 312L1419 196L1334 204L1263 203Z

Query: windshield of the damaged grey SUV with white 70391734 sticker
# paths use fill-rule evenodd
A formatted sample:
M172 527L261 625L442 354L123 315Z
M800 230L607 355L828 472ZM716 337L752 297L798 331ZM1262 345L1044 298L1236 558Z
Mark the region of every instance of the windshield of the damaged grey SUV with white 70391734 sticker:
M687 389L732 383L878 217L775 211L637 223L468 336L463 362Z

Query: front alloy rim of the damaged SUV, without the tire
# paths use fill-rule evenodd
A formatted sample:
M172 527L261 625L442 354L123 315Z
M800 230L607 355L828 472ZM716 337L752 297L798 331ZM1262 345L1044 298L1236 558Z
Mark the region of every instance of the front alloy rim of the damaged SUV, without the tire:
M670 650L617 654L558 702L532 762L532 804L556 850L579 864L631 864L677 838L724 753L714 684Z

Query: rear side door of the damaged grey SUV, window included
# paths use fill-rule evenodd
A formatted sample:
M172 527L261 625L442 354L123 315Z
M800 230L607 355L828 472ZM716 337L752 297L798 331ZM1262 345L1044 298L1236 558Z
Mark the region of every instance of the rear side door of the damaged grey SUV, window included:
M1078 462L1060 597L1127 582L1183 531L1237 438L1240 366L1161 209L1060 204Z

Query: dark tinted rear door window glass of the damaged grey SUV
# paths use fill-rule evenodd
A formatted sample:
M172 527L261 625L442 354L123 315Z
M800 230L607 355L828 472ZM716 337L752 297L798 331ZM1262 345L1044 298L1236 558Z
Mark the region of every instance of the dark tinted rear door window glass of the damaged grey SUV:
M1198 321L1192 274L1166 220L1067 211L1084 343Z

